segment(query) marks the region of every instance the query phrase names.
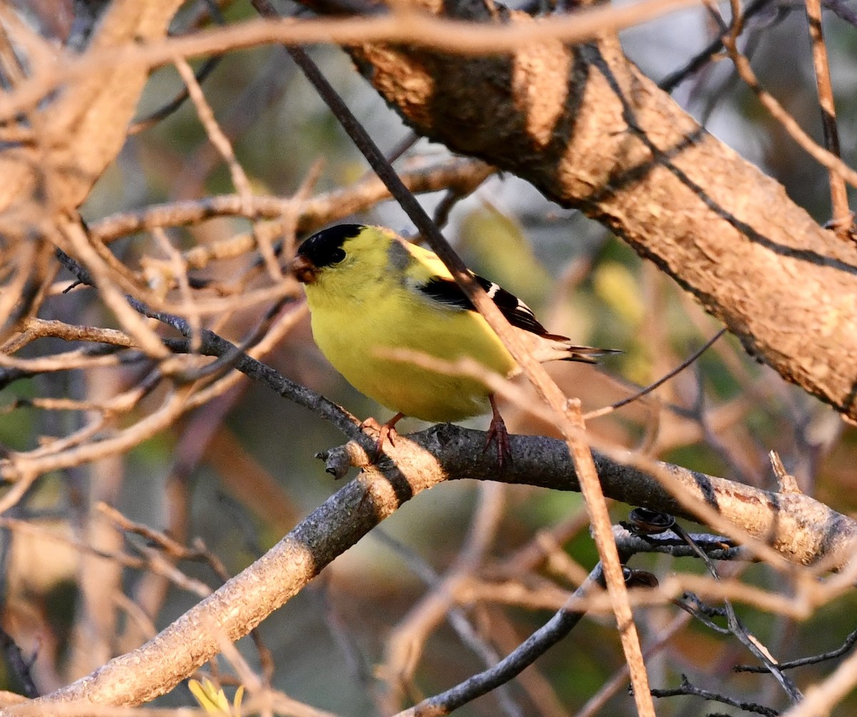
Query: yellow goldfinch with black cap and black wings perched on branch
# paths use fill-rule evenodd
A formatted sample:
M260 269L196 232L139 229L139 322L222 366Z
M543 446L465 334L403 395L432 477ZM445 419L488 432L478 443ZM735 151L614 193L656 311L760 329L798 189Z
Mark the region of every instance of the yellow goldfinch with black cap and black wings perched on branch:
M394 426L405 416L456 421L490 407L494 418L486 446L496 440L500 461L508 455L506 426L485 383L391 355L406 349L443 362L471 358L505 377L519 371L434 252L382 226L341 224L306 239L291 272L303 283L321 352L354 388L396 412L381 426L379 452L386 437L395 440ZM523 301L474 278L537 360L594 364L597 356L612 352L548 334Z

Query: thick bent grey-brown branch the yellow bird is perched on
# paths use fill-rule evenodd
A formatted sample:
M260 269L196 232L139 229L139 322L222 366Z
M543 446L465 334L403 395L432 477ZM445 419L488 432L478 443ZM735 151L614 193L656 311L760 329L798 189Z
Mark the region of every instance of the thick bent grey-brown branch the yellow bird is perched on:
M399 437L389 460L363 470L309 515L278 545L216 593L194 606L141 648L39 700L134 705L172 689L220 649L221 640L246 635L270 612L291 600L328 563L392 515L402 503L445 479L498 479L508 483L578 490L566 444L545 437L512 437L514 461L498 474L493 451L479 455L481 431L434 426ZM361 455L356 444L345 447ZM334 455L344 455L338 449ZM477 456L474 459L474 456ZM626 503L683 509L650 473L596 453L604 493ZM393 463L395 461L395 464ZM770 493L704 473L663 466L686 491L716 505L746 533L764 539L795 563L814 563L853 551L857 521L800 493ZM15 714L15 710L10 711Z

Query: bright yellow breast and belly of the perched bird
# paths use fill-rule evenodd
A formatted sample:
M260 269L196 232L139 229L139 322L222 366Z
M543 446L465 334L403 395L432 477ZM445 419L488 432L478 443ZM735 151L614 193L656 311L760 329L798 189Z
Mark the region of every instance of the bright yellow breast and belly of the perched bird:
M386 268L386 267L382 267ZM473 377L435 371L389 352L425 354L443 362L471 358L488 371L510 374L516 363L474 311L422 297L389 274L307 285L315 342L333 367L382 406L417 419L455 421L485 413L490 389ZM385 355L387 354L387 355Z

